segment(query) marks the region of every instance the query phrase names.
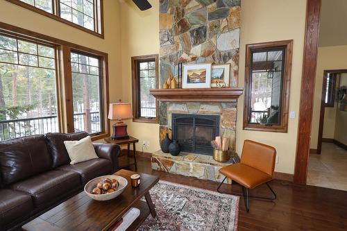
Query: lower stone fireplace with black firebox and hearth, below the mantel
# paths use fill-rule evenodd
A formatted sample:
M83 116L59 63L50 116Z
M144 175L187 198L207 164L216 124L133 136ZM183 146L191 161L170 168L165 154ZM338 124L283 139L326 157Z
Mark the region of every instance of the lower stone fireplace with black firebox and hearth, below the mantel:
M213 160L210 141L217 135L228 137L230 153L235 153L236 105L237 103L234 102L160 101L160 142L164 139L165 134L169 133L169 137L174 137L180 144L183 144L183 151L178 156L172 156L162 151L153 153L152 169L220 182L222 177L218 170L232 164L232 161L221 163ZM199 126L202 127L198 128L199 135L204 130L205 138L210 140L205 141L202 138L200 142L196 141L194 132L196 135L196 128ZM183 137L180 137L177 132L184 133ZM205 151L202 151L203 148Z

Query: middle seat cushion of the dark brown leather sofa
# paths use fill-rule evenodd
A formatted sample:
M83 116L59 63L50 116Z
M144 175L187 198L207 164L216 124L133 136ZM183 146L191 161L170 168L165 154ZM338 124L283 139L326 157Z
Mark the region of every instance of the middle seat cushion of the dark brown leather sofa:
M35 207L54 203L82 187L80 176L73 171L52 170L10 185L15 191L23 191L33 198Z

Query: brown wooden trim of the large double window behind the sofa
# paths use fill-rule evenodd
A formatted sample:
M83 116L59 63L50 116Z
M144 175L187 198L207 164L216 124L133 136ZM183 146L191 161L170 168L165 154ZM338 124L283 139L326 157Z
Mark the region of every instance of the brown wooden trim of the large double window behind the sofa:
M0 22L0 32L7 33L21 40L30 40L37 43L51 44L57 49L57 97L58 98L58 119L60 121L60 132L74 132L74 108L72 101L71 86L71 51L94 55L101 60L101 102L103 103L103 132L91 135L92 141L110 137L110 123L108 121L108 104L109 104L109 84L108 84L108 53L96 51L85 46L56 39L48 35L42 35L33 31L19 28Z

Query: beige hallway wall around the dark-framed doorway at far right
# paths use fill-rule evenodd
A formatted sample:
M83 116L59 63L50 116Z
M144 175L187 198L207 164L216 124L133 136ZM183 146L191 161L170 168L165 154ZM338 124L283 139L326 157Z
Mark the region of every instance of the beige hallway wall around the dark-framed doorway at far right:
M323 86L323 71L331 69L347 69L347 46L324 46L318 49L318 59L316 68L316 83L314 87L314 107L311 129L311 145L313 149L317 148L319 117L321 110L321 95ZM337 103L335 108L325 108L323 137L334 138L335 136L335 117Z

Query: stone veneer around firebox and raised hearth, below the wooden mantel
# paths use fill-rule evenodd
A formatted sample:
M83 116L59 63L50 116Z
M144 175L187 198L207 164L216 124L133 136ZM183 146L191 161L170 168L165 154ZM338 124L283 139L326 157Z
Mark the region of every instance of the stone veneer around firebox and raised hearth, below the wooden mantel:
M172 114L203 114L219 116L219 135L230 139L230 154L235 154L235 125L237 115L237 103L205 103L205 102L164 102L159 105L160 142L165 134L172 137ZM153 170L176 173L183 176L192 176L203 180L221 182L222 176L219 169L232 164L220 163L213 160L212 155L181 152L178 156L172 156L162 151L152 154L151 164ZM229 182L230 183L230 182Z

